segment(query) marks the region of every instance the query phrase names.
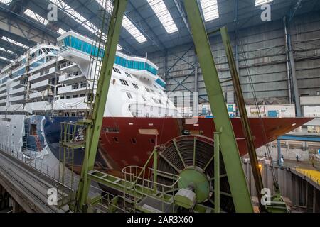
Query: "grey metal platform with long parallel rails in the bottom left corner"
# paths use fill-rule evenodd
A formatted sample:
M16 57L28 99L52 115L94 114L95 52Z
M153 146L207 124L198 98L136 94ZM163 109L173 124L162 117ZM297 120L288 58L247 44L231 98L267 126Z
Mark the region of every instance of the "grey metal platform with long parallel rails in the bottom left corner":
M0 184L28 213L63 213L48 204L48 189L57 181L27 163L0 150Z

